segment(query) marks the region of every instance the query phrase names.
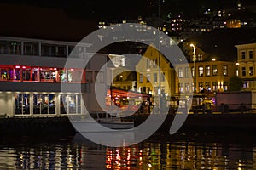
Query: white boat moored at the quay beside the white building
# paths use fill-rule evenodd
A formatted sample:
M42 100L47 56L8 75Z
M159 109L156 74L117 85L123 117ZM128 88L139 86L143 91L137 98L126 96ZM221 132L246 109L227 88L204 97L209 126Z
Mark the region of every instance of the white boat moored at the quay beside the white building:
M102 133L113 130L129 130L134 127L133 120L125 120L118 112L93 111L90 115L69 116L77 133Z

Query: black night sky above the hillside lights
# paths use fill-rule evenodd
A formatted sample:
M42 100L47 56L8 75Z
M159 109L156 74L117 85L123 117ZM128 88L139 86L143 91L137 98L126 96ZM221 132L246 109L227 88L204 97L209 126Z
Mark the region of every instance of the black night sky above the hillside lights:
M32 4L42 7L62 8L73 17L86 20L136 20L138 15L183 14L186 17L201 14L206 8L235 8L237 0L2 0L1 2ZM253 3L254 0L241 0Z

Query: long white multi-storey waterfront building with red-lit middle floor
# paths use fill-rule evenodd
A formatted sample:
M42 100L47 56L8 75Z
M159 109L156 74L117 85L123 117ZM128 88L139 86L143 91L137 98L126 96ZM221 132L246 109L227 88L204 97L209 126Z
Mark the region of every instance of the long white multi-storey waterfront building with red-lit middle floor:
M79 43L74 48L76 45L77 42L0 37L0 115L81 114L83 103L87 110L96 110L94 84L97 76L102 77L97 80L107 93L106 72L98 67L107 62L108 55L95 54L86 67L76 66L89 54L90 44ZM65 66L69 55L72 68Z

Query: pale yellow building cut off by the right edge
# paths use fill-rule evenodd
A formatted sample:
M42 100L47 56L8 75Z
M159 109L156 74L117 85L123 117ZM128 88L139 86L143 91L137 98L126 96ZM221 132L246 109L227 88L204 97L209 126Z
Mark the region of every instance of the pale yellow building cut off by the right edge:
M243 88L256 89L256 43L246 43L237 48L238 76L243 80Z

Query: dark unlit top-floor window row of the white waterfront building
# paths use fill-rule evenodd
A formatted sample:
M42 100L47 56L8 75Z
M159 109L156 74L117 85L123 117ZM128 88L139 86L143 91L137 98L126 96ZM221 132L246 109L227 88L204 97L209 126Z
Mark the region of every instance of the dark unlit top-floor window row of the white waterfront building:
M73 52L77 58L84 58L84 47L74 48L72 45L57 45L39 42L0 41L0 54L24 54L49 57L67 57Z

